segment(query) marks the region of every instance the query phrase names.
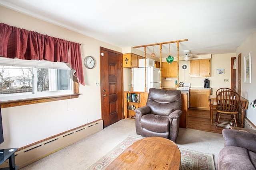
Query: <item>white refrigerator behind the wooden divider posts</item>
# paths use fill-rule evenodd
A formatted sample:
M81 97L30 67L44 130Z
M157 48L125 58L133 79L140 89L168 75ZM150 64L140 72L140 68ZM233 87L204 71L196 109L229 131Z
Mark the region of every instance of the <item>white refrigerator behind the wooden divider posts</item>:
M146 92L150 88L160 88L160 69L146 67ZM145 92L145 67L132 68L132 90Z

